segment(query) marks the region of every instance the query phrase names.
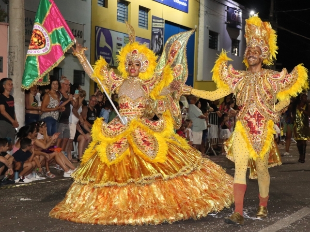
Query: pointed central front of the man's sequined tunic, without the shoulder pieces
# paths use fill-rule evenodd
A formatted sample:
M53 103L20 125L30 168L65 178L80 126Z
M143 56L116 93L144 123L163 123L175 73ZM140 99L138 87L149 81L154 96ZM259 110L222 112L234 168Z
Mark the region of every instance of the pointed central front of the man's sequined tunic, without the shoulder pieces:
M275 94L267 78L268 70L245 72L237 93L237 104L241 106L237 120L247 129L248 139L257 154L266 140L267 122L279 121L274 109Z

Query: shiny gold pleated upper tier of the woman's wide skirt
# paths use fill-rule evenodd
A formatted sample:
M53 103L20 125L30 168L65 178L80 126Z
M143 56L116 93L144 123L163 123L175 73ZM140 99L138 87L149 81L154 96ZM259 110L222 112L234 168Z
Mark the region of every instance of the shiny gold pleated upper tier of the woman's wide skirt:
M168 147L164 163L148 162L136 155L131 147L128 156L111 166L102 162L95 153L85 164L81 164L72 177L79 184L92 184L95 188L123 187L131 183L145 185L159 179L168 180L201 167L203 161L198 150L193 147L184 149L181 144L168 143Z

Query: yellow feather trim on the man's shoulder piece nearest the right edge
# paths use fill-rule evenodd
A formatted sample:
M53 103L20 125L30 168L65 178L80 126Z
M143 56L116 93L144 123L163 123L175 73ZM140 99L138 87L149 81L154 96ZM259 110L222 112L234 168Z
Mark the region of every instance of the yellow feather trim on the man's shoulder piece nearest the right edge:
M281 91L277 94L277 99L283 101L289 97L296 97L304 89L308 89L308 69L302 64L298 64L295 69L297 69L297 80L292 87Z

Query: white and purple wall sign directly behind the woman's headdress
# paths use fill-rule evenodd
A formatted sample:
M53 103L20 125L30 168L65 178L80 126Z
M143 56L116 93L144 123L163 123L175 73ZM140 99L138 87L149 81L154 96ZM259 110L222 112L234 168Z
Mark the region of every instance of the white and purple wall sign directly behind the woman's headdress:
M116 55L119 54L119 50L121 50L123 46L129 43L128 34L97 26L95 27L95 31L95 60L99 59L101 56L105 58L110 66L117 67ZM150 40L136 37L136 41L145 43L146 46L150 48Z

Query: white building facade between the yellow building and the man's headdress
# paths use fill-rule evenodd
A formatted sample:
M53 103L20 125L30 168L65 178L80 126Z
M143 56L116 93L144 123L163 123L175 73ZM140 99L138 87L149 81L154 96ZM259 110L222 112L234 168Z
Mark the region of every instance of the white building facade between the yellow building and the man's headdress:
M233 59L230 63L235 69L246 68L242 61L248 11L232 0L200 0L199 15L198 72L194 87L215 90L211 70L222 49Z

